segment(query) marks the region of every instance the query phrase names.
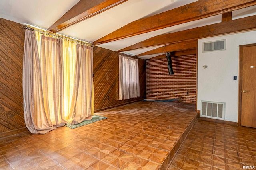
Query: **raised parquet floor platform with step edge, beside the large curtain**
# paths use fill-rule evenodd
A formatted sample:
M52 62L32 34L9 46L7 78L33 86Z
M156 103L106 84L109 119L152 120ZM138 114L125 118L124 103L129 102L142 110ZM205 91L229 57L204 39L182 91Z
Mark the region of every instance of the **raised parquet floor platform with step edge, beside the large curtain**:
M0 166L165 170L197 119L194 104L179 102L141 101L96 114L108 119L0 140Z

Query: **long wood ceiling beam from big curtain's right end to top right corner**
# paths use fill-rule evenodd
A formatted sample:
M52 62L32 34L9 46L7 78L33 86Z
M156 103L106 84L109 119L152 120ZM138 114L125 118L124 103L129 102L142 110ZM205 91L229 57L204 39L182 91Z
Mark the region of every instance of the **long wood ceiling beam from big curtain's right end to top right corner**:
M136 20L95 41L94 45L171 27L256 5L256 0L199 0L154 16Z

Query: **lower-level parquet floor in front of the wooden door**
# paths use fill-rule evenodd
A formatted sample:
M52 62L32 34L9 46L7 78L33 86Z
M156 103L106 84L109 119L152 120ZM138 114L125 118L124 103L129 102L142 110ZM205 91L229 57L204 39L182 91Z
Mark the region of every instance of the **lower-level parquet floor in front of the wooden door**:
M168 170L242 170L243 166L256 169L256 129L198 120Z

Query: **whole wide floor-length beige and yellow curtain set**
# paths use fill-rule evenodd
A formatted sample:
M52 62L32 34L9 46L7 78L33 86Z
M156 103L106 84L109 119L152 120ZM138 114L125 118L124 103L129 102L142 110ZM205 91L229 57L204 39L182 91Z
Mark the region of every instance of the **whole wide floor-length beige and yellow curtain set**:
M23 96L25 123L31 133L44 134L68 121L77 124L91 119L92 47L26 29Z

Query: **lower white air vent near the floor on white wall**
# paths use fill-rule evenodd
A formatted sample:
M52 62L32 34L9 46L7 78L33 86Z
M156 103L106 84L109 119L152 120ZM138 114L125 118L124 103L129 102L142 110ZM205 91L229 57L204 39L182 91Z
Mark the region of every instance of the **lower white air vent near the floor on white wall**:
M201 117L224 120L225 103L201 101Z

